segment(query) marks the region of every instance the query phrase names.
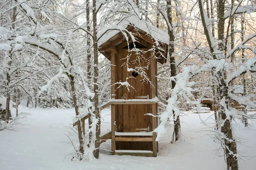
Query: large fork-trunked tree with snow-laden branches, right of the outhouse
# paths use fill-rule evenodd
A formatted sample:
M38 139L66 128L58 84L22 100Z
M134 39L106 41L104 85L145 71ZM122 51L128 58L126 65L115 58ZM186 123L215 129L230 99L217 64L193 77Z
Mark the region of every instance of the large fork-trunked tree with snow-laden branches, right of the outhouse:
M218 113L221 115L221 119L218 120L221 123L221 132L224 133L224 136L221 136L221 142L223 142L225 158L227 162L227 170L238 170L238 155L236 147L236 138L232 131L232 122L231 117L237 116L236 109L232 108L230 105L230 100L235 100L239 103L244 103L247 99L242 100L239 97L232 95L230 93L230 84L241 75L255 71L254 65L256 63L255 58L247 59L246 62L243 62L239 66L234 66L233 63L229 62L229 58L233 56L239 49L250 48L245 47L245 44L253 39L256 34L250 34L247 38L244 38L238 45L232 47L227 52L227 41L229 36L229 28L231 25L232 17L238 13L246 13L249 11L254 11L253 4L241 6L242 1L235 3L231 1L230 8L225 10L224 6L226 1L218 0L217 3L217 17L218 17L218 38L217 40L212 35L210 26L212 25L212 19L209 19L207 13L204 9L204 2L202 0L198 1L200 15L202 20L202 25L204 27L204 33L207 38L209 49L212 54L212 61L215 61L219 66L214 68L214 77L216 77L220 92L220 100L218 101L220 106L218 108ZM228 20L228 21L226 21ZM228 24L227 29L225 30L225 23ZM231 26L232 27L232 26ZM232 29L232 28L231 28ZM225 31L227 33L225 37ZM232 39L232 37L231 37ZM232 43L232 42L231 42ZM250 63L249 63L250 62ZM231 69L232 66L235 69ZM247 101L248 103L249 101ZM251 102L251 105L254 105Z

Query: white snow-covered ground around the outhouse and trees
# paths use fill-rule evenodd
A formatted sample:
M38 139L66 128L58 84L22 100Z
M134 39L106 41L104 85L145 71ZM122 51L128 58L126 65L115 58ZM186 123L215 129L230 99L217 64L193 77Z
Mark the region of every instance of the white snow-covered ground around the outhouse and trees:
M13 110L14 111L14 110ZM102 113L102 133L110 130L110 113ZM15 111L14 111L15 112ZM71 129L74 109L42 109L20 106L20 112L30 113L14 130L0 131L0 170L225 170L223 156L216 155L218 145L211 138L212 113L187 113L181 117L183 140L171 144L172 127L159 142L156 158L108 155L111 141L102 143L100 159L71 161L74 149L70 139L78 137ZM244 127L235 122L240 170L256 166L256 125ZM66 134L66 135L65 135Z

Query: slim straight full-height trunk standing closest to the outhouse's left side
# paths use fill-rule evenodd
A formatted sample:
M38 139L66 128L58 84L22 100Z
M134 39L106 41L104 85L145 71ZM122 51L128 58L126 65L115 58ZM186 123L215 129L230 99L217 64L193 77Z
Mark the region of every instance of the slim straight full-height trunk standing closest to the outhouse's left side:
M99 110L99 91L98 91L98 44L97 44L97 13L96 13L96 0L93 0L93 58L94 58L94 108L95 117L98 121L96 124L96 141L95 150L93 155L96 159L99 158L99 145L100 145L100 110Z

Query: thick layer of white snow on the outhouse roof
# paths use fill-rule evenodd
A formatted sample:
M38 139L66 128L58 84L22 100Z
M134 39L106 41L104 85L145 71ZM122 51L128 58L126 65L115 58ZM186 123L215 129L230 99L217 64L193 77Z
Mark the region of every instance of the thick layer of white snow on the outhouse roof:
M125 31L128 26L134 26L136 28L139 28L140 30L143 30L147 34L149 34L152 38L154 38L154 40L169 44L169 35L166 32L157 28L156 26L148 24L144 20L140 20L135 16L131 16L126 18L125 20L113 23L111 27L102 28L97 34L97 37L102 36L99 39L98 45L102 45L104 42L108 41L120 31Z

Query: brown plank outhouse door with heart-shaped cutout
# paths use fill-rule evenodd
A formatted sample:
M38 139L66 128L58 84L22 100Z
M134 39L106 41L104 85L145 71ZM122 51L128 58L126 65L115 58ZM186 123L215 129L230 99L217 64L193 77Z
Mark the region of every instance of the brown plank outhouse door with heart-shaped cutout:
M130 85L129 88L123 87L122 98L148 99L151 81L149 79L150 52L140 55L135 54L135 52L129 53L126 49L122 52L123 56L128 56L125 63L126 67L123 67L123 82L127 81ZM151 131L151 116L145 115L150 112L149 105L124 105L124 132Z

